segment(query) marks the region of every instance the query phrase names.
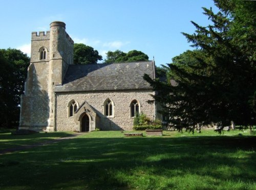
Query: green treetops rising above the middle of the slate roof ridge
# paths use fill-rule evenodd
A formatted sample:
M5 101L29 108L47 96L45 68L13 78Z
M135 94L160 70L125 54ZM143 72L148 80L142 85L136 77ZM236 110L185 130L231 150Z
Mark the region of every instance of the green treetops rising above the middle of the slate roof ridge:
M148 61L148 56L137 50L132 50L128 53L123 53L119 50L116 50L115 52L109 51L106 55L107 57L104 60L105 63Z

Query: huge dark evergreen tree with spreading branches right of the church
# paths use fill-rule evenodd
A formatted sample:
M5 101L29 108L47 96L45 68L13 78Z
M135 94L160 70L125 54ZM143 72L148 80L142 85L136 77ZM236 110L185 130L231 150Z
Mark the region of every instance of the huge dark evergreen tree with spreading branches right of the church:
M173 58L168 64L168 82L144 76L158 91L154 98L163 106L161 113L177 129L193 131L217 124L222 130L231 121L244 126L256 123L256 4L215 3L220 8L218 13L203 8L212 25L201 27L192 22L195 33L183 33L196 50Z

